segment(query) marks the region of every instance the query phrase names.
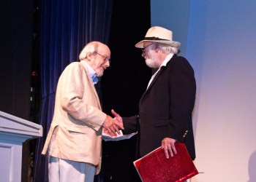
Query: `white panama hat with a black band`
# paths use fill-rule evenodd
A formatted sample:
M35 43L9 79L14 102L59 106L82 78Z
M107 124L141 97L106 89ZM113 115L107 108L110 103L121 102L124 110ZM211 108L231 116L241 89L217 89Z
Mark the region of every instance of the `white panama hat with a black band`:
M135 44L135 47L143 48L144 41L159 42L162 44L168 44L173 47L179 47L181 45L178 41L173 41L173 32L159 26L154 26L148 29L145 39Z

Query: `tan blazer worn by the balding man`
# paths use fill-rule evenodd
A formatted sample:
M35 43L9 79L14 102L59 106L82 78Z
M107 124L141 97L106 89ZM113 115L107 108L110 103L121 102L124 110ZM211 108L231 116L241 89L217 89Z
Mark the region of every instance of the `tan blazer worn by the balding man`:
M50 156L96 165L99 173L105 118L86 66L82 62L69 64L59 78L53 121L42 154L49 149Z

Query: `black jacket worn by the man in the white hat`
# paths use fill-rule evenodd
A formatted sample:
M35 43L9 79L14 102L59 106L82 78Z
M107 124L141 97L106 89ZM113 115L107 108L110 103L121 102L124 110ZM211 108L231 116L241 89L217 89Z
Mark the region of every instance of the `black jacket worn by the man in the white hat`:
M124 133L139 131L141 156L161 146L163 138L174 138L184 142L195 159L192 129L195 92L193 68L185 58L173 55L140 98L139 114L123 118Z

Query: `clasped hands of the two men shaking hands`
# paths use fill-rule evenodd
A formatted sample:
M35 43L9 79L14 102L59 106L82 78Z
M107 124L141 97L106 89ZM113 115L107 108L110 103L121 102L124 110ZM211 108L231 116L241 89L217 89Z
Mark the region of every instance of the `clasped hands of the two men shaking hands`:
M107 115L105 122L102 124L103 132L107 133L110 136L116 136L116 132L120 134L119 130L124 130L123 119L113 109L111 110L111 113L115 117L112 118L111 116Z

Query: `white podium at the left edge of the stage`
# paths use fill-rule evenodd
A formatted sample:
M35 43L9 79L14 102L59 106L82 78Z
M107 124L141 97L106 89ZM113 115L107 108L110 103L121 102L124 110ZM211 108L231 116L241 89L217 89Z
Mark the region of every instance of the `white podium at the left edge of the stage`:
M21 181L23 142L42 137L42 126L0 111L0 181Z

